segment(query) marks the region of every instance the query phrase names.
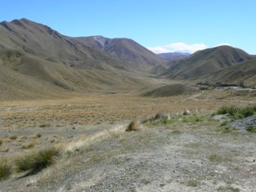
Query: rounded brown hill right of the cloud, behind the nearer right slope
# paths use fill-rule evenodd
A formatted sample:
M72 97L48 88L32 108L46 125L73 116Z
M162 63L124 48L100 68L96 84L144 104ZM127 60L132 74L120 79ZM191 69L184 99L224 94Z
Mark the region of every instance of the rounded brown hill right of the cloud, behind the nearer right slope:
M185 60L181 60L165 71L164 76L172 79L197 79L252 59L254 56L234 47L214 47L197 51Z

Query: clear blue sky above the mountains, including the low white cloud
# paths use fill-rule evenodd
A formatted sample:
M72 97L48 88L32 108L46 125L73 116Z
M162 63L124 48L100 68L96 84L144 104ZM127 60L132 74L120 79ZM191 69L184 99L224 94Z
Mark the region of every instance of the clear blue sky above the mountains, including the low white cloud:
M70 37L132 38L151 51L230 45L256 55L255 0L8 0L0 20L26 18Z

